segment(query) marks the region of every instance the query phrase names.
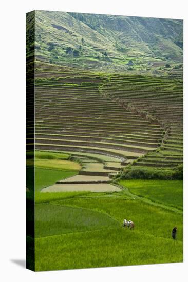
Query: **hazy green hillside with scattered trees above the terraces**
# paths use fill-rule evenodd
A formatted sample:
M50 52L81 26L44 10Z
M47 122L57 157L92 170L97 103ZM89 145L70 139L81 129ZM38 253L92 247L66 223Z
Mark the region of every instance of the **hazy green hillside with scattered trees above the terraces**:
M167 63L172 72L175 66L182 71L177 64L182 64L183 21L35 11L35 55L50 63L103 71L160 72Z

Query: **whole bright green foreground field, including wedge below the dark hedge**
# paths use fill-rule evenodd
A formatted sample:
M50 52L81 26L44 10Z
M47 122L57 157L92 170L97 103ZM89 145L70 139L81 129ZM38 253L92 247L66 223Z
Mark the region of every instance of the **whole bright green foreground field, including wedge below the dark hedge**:
M121 185L138 196L153 199L151 195L155 195L153 200L166 206L174 204L173 197L167 199L172 187L178 187L179 194L182 191L181 181L128 180ZM146 186L147 194L142 190ZM153 191L150 195L149 189ZM162 191L166 201L161 200ZM181 197L178 207L182 207ZM124 218L135 222L135 230L123 228ZM134 200L124 190L114 193L37 192L35 224L36 271L183 260L182 213L149 205L142 198ZM178 227L176 241L171 238L174 226Z

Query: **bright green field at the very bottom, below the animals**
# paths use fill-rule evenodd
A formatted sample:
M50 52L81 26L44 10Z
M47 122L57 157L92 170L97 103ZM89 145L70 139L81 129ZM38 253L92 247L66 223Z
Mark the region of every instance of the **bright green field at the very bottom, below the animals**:
M138 234L137 231L125 232L123 229L36 239L35 250L36 271L182 261L180 241Z

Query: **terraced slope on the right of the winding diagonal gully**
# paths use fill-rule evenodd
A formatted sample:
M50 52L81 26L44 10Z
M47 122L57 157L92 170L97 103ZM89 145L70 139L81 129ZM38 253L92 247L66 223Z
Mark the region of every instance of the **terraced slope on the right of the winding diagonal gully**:
M183 84L170 78L146 78L114 75L102 88L103 95L125 108L153 119L164 130L160 147L148 152L134 165L173 168L183 162ZM137 142L142 134L134 134ZM141 138L141 139L140 139ZM156 144L156 137L145 142Z

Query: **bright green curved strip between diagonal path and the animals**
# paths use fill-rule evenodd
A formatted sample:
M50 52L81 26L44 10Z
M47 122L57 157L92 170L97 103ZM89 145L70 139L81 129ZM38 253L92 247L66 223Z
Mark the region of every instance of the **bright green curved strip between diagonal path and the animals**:
M167 212L154 205L148 205L138 200L128 199L115 199L115 198L73 198L66 199L59 202L62 205L77 206L83 208L90 208L93 210L101 211L109 214L115 218L121 224L122 218L127 218L135 221L137 231L142 233L144 223L150 218L151 223L147 226L147 232L154 236L161 236L163 238L169 238L168 225L171 222L178 226L182 224L182 214ZM66 203L66 204L65 204ZM98 203L96 205L96 203ZM159 212L160 211L160 212ZM159 223L166 216L163 226L155 230L155 226L159 227ZM174 218L173 218L174 217ZM181 224L178 223L178 220ZM182 226L181 226L182 228ZM179 239L182 240L182 230L179 230ZM145 230L144 230L145 231ZM146 232L146 233L147 233Z

